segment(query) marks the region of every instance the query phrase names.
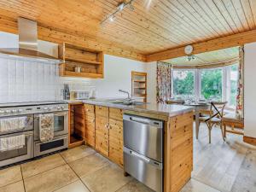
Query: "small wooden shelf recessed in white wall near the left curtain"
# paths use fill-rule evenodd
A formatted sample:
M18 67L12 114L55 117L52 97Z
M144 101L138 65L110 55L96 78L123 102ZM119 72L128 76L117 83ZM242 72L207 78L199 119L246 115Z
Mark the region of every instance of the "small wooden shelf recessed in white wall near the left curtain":
M147 102L147 73L131 72L131 95L143 97Z

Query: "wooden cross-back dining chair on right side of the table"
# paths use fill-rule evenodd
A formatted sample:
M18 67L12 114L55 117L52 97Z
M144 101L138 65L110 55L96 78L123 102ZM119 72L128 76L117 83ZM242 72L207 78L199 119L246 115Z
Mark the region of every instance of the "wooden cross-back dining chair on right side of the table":
M224 108L227 102L211 102L210 113L207 116L202 116L199 118L200 122L205 122L209 131L209 143L211 143L211 133L213 125L219 125L221 134L224 138L224 128L223 128L223 116Z

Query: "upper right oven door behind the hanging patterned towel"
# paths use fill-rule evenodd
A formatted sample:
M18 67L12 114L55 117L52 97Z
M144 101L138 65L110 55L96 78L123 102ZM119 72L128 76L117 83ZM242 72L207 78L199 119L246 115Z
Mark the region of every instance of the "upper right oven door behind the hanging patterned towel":
M34 118L34 140L39 140L39 115L35 114ZM65 135L68 133L68 112L55 112L55 121L54 121L54 129L55 129L55 137Z

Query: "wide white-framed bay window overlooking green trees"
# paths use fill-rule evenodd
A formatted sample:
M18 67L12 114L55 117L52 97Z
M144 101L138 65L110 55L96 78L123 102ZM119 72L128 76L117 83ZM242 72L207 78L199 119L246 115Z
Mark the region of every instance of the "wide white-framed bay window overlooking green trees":
M173 69L172 96L198 101L227 101L236 108L238 64L211 69Z

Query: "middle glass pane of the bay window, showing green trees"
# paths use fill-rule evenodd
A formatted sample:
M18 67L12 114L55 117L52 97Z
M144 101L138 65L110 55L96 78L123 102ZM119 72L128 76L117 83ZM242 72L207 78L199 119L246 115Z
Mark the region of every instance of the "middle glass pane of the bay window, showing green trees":
M201 99L222 100L222 69L201 71Z

